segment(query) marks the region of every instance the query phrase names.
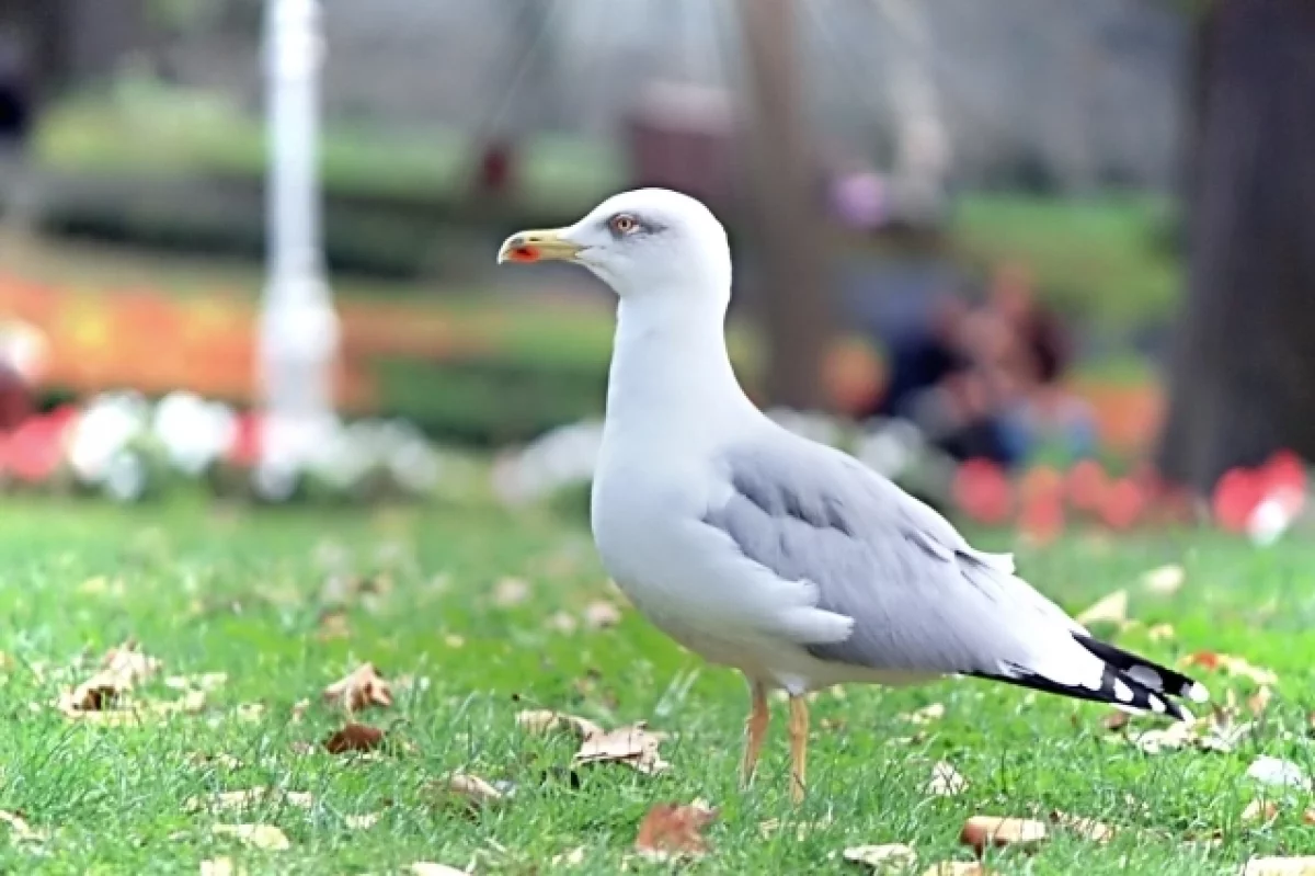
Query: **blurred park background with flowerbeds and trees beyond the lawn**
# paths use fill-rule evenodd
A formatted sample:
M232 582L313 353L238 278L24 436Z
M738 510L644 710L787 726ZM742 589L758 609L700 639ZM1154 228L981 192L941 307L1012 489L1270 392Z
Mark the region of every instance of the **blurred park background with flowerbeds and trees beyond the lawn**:
M638 185L942 506L1265 537L1315 451L1306 0L0 0L0 141L20 489L586 483L614 304L493 256Z

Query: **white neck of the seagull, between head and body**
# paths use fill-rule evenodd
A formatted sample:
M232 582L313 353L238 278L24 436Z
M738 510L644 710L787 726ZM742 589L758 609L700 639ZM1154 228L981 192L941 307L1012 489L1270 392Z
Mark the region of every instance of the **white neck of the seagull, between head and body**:
M735 379L725 320L725 305L688 296L622 300L608 380L609 422L651 434L685 426L706 433L755 410Z

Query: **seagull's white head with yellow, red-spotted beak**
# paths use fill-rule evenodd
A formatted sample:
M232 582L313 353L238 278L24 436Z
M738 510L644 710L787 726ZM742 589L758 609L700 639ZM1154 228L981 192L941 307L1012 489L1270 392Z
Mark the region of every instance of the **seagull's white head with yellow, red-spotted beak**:
M725 306L731 259L726 229L700 201L661 188L622 192L575 225L519 231L502 262L575 262L623 300L704 296Z

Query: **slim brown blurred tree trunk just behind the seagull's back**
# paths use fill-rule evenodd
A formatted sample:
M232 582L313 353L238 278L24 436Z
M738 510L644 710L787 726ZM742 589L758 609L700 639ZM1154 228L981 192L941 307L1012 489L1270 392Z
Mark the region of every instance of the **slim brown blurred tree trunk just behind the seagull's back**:
M797 63L797 7L809 1L742 0L739 7L750 63L748 201L768 337L765 388L771 404L796 410L827 406L822 362L831 317Z

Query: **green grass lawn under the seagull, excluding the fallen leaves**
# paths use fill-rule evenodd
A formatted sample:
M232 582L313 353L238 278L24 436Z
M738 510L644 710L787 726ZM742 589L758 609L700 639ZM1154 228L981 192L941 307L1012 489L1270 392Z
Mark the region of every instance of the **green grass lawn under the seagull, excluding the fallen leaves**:
M844 848L898 842L917 850L909 872L920 873L970 860L959 833L973 814L1053 810L1119 830L1097 843L1055 829L1030 855L990 852L992 871L1236 873L1252 855L1315 851L1306 792L1270 791L1272 822L1241 818L1264 793L1244 775L1257 756L1315 768L1307 545L1266 552L1197 535L1073 537L1019 555L1072 610L1127 588L1140 623L1097 627L1120 645L1162 660L1208 648L1277 672L1273 701L1233 750L1145 754L1126 734L1152 721L1111 731L1102 708L980 681L851 688L817 697L810 794L793 809L784 708L756 785L739 791L742 681L629 609L619 625L593 629L590 605L622 602L577 525L483 508L367 516L24 502L0 506L0 810L41 835L11 830L7 840L0 825L3 872L195 873L222 856L250 873L394 873L419 860L480 873L669 872L635 855L636 826L655 804L696 798L719 817L690 872L863 872ZM1141 579L1165 563L1184 567L1185 584L1157 595ZM1157 623L1174 634L1152 639ZM51 705L129 638L162 660L128 694L142 717L104 726ZM329 754L321 743L343 714L321 691L366 660L394 683L391 708L358 714L385 730L385 744ZM226 681L204 705L151 712L183 697L164 679L197 685L209 672ZM1216 701L1256 691L1219 672L1201 677ZM909 718L934 704L943 717ZM525 709L606 727L647 721L671 734L669 769L572 771L577 743L518 730ZM960 794L927 793L939 760L967 779ZM468 812L443 784L454 771L509 793ZM217 808L220 792L260 787L280 793ZM189 808L193 797L204 805ZM251 848L214 831L237 823L275 826L288 847Z

